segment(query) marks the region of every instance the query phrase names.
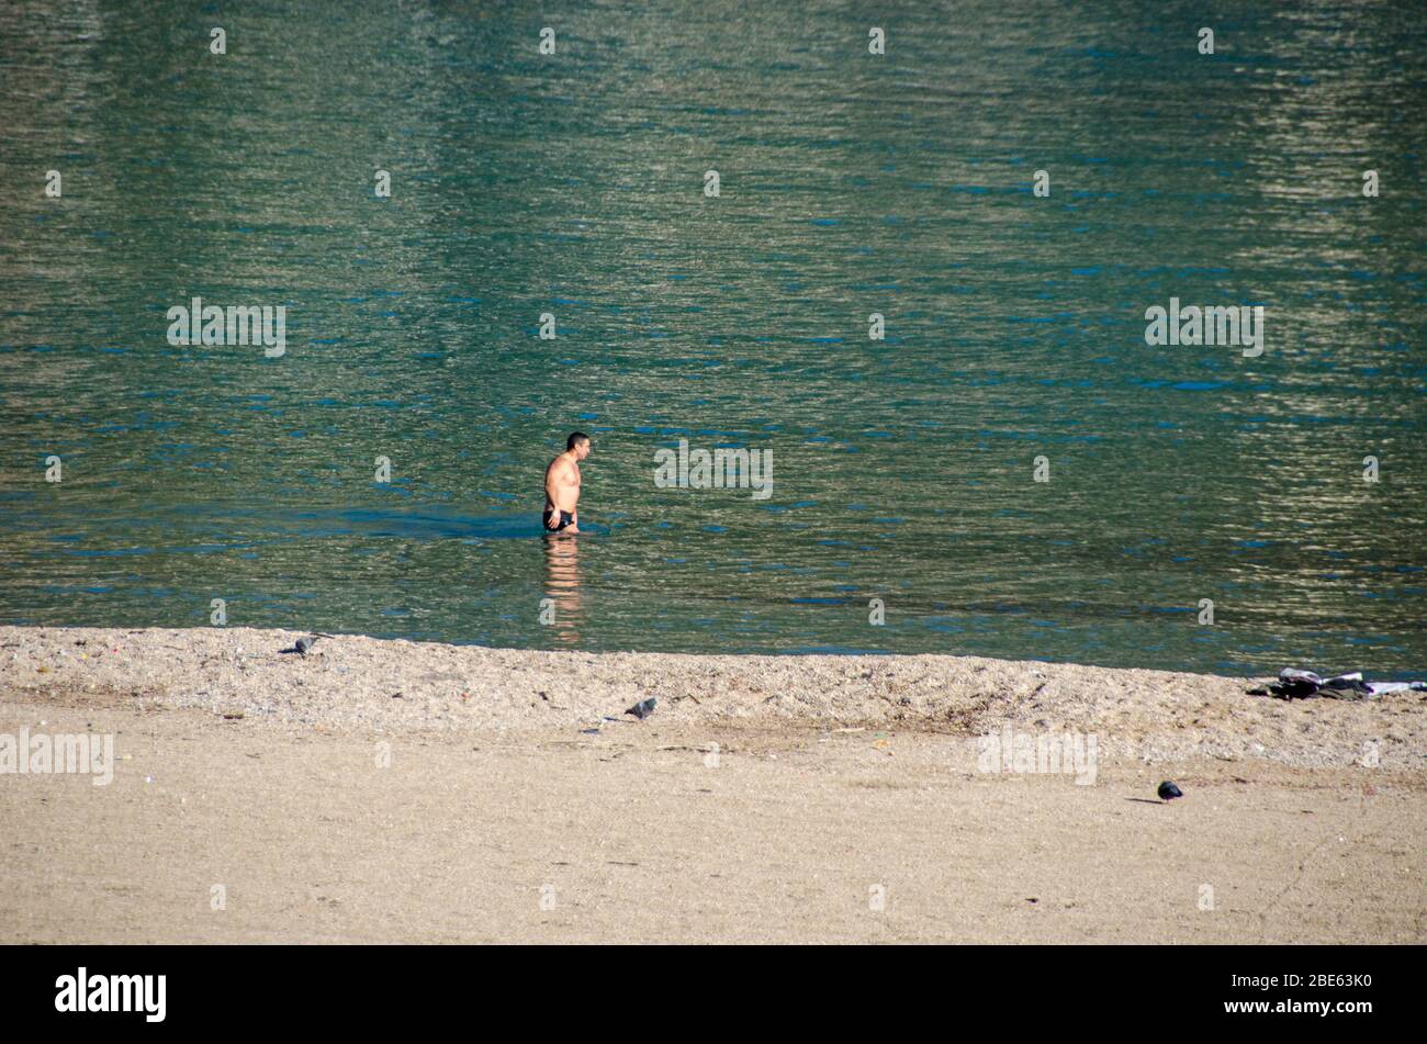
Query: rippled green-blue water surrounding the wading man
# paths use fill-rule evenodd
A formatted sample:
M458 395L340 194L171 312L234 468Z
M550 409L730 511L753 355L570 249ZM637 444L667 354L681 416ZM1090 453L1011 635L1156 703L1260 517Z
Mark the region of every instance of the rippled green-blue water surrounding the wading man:
M1424 676L1416 4L567 7L0 6L0 622Z

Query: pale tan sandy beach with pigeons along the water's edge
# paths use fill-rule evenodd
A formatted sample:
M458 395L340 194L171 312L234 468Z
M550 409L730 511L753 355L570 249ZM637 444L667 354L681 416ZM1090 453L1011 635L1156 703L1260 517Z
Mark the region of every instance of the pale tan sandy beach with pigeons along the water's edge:
M0 733L118 759L0 776L0 941L1424 938L1423 693L298 636L0 628Z

